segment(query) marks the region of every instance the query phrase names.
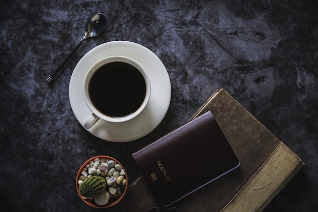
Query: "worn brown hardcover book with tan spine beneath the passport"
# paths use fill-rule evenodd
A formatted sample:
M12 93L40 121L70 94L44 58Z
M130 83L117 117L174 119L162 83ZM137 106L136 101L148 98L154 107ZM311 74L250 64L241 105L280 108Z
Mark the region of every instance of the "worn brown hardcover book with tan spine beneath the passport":
M226 90L216 90L190 120L207 111L212 112L230 143L240 168L173 206L179 211L262 211L304 163ZM130 185L120 204L111 209L147 212L158 205L140 176Z

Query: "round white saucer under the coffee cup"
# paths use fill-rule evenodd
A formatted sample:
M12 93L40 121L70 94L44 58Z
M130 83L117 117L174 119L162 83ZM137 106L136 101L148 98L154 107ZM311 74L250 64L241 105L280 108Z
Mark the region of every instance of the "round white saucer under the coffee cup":
M171 84L168 72L161 60L146 47L129 41L112 41L88 51L80 59L71 76L70 103L75 117L83 126L91 114L83 97L82 86L85 74L98 60L114 55L130 57L145 68L151 82L148 104L138 116L127 122L110 123L100 119L87 131L107 141L133 141L147 135L161 123L168 111L171 100Z

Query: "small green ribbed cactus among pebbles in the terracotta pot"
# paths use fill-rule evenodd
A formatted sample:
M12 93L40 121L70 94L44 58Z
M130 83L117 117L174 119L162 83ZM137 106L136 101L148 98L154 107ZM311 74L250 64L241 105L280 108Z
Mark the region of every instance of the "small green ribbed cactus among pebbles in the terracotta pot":
M99 196L106 187L106 180L101 176L92 176L86 178L79 187L79 192L83 198L91 199Z

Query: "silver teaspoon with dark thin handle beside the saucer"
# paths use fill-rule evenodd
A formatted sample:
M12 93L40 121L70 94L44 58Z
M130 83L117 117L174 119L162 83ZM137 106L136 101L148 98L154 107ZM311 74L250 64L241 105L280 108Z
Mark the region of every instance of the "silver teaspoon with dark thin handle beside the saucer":
M98 36L101 34L105 28L106 25L106 18L102 13L98 13L96 15L93 15L86 23L85 26L85 35L84 37L79 41L75 49L69 54L69 56L63 61L63 63L57 67L57 69L46 78L47 82L51 82L53 77L59 72L59 70L68 62L68 60L71 58L71 56L75 53L75 51L84 43L86 38L93 38L95 36Z

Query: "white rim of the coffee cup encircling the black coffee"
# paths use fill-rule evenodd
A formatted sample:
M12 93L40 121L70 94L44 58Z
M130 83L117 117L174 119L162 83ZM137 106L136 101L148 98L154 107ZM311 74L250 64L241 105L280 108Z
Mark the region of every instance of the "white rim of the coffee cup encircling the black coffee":
M105 65L106 63L111 63L111 62L129 63L129 64L133 65L135 68L137 68L144 77L144 80L146 83L146 95L145 95L144 101L142 102L140 107L132 114L129 114L126 116L121 116L121 117L111 117L111 116L105 115L102 112L100 112L97 108L94 107L94 105L90 101L89 93L88 93L88 85L89 85L90 77L94 74L94 72L98 68ZM115 55L115 56L108 56L108 57L102 58L89 68L89 70L87 71L87 73L84 77L83 96L84 96L84 100L85 100L86 105L92 111L93 114L95 114L96 116L98 116L99 118L101 118L103 120L106 120L107 122L112 122L112 123L126 122L128 120L133 119L137 115L139 115L143 111L143 109L146 107L146 105L148 104L148 101L150 98L150 93L151 93L150 78L149 78L148 74L146 73L145 69L136 60L134 60L130 57L126 57L126 56Z

